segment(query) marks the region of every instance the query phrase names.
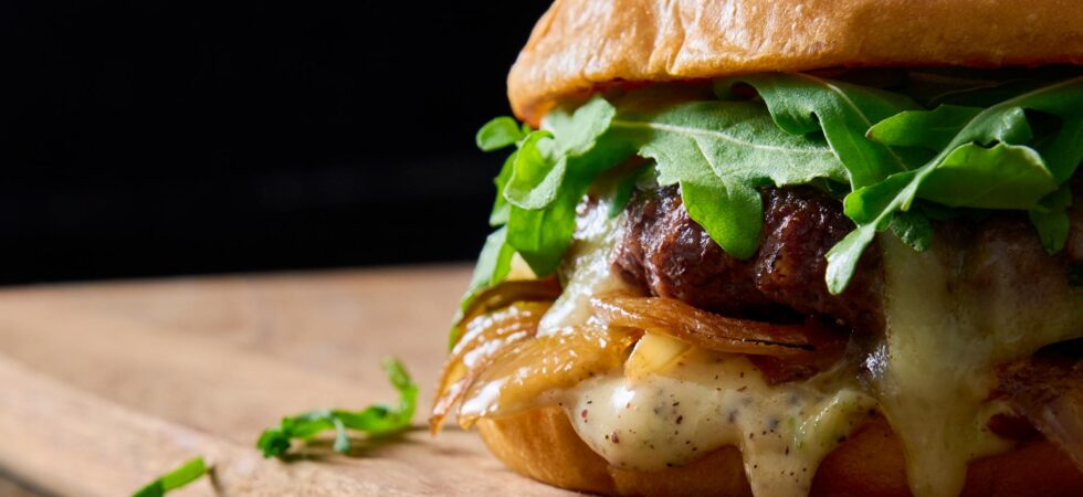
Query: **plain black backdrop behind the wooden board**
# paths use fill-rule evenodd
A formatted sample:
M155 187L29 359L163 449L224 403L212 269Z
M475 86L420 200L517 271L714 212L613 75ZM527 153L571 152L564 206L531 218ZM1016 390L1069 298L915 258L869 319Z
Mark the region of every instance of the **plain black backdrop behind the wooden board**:
M0 283L473 257L546 6L3 2Z

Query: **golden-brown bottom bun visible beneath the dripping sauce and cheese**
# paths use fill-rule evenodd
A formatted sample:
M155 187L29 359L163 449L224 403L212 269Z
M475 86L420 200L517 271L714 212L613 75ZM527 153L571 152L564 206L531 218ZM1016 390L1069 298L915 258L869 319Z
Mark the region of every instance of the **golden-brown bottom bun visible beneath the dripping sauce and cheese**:
M564 488L603 495L751 495L740 453L723 447L695 463L658 473L617 469L595 454L558 408L483 420L477 431L508 467ZM810 496L909 496L902 448L887 423L866 422L817 470ZM1048 442L975 461L963 496L1074 497L1083 495L1083 473Z

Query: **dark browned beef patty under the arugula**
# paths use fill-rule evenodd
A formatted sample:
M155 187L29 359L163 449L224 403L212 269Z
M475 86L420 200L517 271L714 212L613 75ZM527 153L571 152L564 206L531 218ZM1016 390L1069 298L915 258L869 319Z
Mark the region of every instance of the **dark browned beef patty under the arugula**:
M612 268L646 293L727 316L817 315L855 330L883 330L884 273L879 248L865 251L841 295L831 295L824 283L827 252L854 228L842 213L841 202L810 187L767 188L763 198L759 250L742 261L726 254L688 218L676 187L637 192L628 207ZM1071 260L1083 256L1081 214L1083 209L1073 212L1069 246L1056 257L1042 251L1033 228L1018 213L940 224L937 236L965 237L964 246L999 246L1018 264L1055 265L1063 274Z

